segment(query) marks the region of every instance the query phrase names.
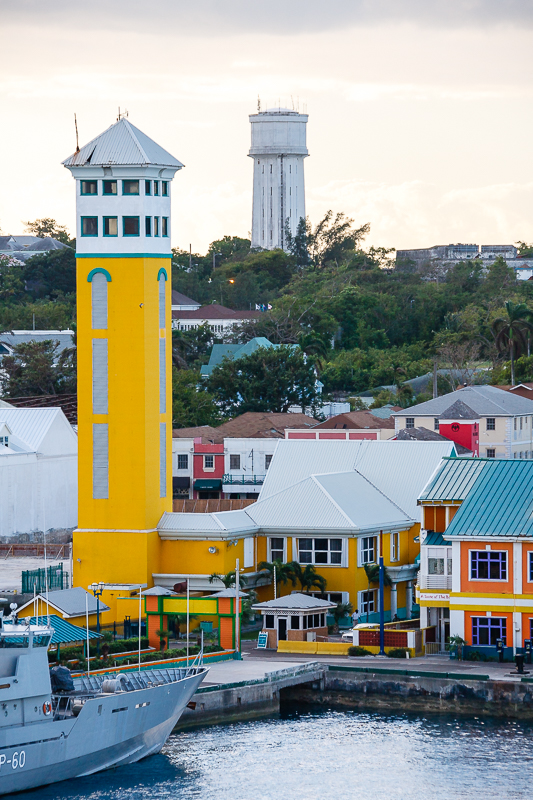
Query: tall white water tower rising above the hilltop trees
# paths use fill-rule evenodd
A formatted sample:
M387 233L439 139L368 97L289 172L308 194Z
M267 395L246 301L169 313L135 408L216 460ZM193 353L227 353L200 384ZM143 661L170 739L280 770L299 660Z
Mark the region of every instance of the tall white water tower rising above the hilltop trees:
M252 247L286 248L285 227L294 236L305 219L304 158L307 114L270 108L250 114L254 159Z

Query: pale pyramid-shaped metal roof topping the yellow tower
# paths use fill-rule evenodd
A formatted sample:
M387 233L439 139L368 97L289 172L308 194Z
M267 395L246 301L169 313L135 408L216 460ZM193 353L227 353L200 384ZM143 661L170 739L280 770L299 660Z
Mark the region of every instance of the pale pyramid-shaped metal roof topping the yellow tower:
M124 117L63 161L65 167L106 167L115 164L183 167L181 161Z

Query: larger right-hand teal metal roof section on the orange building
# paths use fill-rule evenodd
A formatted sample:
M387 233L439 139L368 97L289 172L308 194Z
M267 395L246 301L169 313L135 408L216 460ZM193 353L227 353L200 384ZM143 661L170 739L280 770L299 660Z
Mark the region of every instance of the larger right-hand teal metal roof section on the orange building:
M533 461L484 462L468 497L446 529L453 536L533 537Z

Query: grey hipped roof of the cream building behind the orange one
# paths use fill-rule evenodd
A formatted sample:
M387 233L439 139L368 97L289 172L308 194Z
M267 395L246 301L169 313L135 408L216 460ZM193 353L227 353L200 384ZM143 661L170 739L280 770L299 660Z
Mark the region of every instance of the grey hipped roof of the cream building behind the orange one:
M455 392L435 397L426 403L396 411L394 417L438 417L456 400L461 400L477 416L509 416L513 414L533 414L533 400L526 400L511 392L502 392L496 386L465 386Z

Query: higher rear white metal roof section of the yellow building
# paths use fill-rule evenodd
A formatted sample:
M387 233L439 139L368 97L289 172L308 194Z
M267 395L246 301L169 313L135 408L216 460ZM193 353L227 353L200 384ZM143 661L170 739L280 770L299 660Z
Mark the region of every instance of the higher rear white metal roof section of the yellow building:
M441 458L455 453L453 442L280 440L259 502L310 475L357 471L411 519L417 499ZM328 487L330 484L328 484ZM362 491L362 497L368 489ZM359 499L359 498L358 498ZM256 506L250 506L255 508ZM344 506L343 506L344 507ZM249 510L248 509L248 510Z

